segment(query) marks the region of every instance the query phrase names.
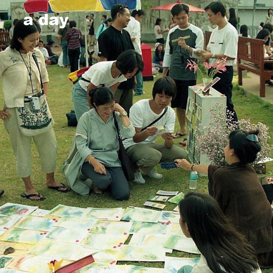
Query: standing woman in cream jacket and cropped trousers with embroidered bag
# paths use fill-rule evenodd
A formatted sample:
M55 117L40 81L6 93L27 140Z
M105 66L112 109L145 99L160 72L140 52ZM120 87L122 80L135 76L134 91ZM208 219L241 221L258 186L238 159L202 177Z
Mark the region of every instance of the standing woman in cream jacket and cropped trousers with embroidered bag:
M45 197L35 190L31 181L32 139L40 155L41 169L46 173L47 187L60 192L67 192L68 189L54 179L57 141L51 127L52 119L47 122L48 116L44 116L41 111L42 107L47 108L47 99L43 100L44 106L40 105L39 101L44 95L47 98L49 81L43 54L35 48L39 42L40 27L35 20L33 25L25 25L24 22L25 20L21 19L16 23L10 47L0 52L0 75L3 79L5 105L0 111L0 118L10 136L17 173L25 184L25 191L21 196L30 200L44 200ZM35 102L35 112L37 116L41 116L40 120L31 118L35 115L31 115L26 108L31 102ZM18 116L18 113L22 114ZM27 128L30 130L28 134L24 130Z

